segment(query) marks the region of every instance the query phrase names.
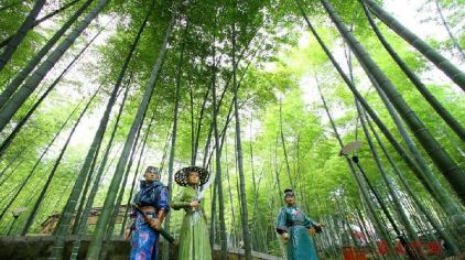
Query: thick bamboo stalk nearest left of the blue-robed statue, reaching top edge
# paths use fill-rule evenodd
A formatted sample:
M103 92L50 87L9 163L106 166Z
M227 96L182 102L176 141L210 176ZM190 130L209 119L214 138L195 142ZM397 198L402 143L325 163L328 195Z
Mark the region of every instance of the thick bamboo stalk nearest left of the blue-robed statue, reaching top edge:
M175 17L176 17L176 12L177 12L176 1L174 1L173 4L174 4L175 8L174 8L174 10L172 10L171 21L167 24L165 35L164 35L164 39L163 39L163 43L162 43L162 46L161 46L160 52L159 52L159 56L158 56L156 62L153 66L148 86L147 86L144 95L142 97L142 101L141 101L139 108L138 108L136 118L132 122L131 129L130 129L129 134L127 137L127 140L125 142L125 148L121 152L120 160L118 161L118 164L117 164L117 167L116 167L116 171L115 171L115 175L111 180L107 197L105 198L105 204L104 204L104 207L102 207L102 210L101 210L101 215L98 218L96 230L94 232L93 239L91 239L90 245L89 245L89 249L87 251L86 259L88 259L88 260L98 259L99 254L100 254L100 248L101 248L104 235L105 235L105 231L106 231L106 228L107 228L107 225L108 225L108 220L109 220L109 217L110 217L110 214L111 214L111 207L115 204L116 195L117 195L117 192L118 192L118 185L121 182L122 173L125 171L125 166L126 166L126 163L128 161L129 151L133 145L136 133L139 129L139 126L142 123L142 120L143 120L142 117L145 113L145 110L149 106L149 101L151 99L153 89L155 87L155 82L159 77L161 65L162 65L162 62L164 59L164 54L166 53L166 50L167 50L166 48L167 41L169 41L169 37L171 35L171 32L172 32L172 29L173 29L173 25L174 25L174 21L175 21Z

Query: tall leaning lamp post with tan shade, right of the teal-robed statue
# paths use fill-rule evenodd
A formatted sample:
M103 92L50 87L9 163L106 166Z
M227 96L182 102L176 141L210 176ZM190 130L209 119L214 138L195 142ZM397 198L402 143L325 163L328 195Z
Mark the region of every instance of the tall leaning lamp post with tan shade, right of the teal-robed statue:
M381 197L379 196L378 192L375 189L375 187L371 185L370 181L367 177L367 174L365 173L364 169L360 165L359 158L356 155L357 151L361 148L363 142L360 141L354 141L347 143L345 147L340 149L339 155L345 156L347 159L350 159L356 165L358 171L361 173L361 176L367 182L369 189L375 195L376 201L381 206L382 213L386 215L386 217L389 220L389 224L391 224L397 237L399 238L399 241L401 242L402 247L405 249L407 254L409 254L410 259L420 259L417 251L413 250L411 245L409 243L405 235L400 231L399 227L396 225L394 219L392 218L391 214L388 210L388 207L382 202ZM349 158L349 154L354 154Z

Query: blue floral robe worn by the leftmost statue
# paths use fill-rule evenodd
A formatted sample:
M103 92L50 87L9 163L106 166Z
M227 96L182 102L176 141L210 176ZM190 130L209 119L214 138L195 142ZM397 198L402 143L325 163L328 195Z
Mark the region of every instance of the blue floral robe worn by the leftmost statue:
M133 203L139 206L152 206L156 210L170 209L167 187L161 182L145 183L141 181L140 191L136 194ZM147 213L158 217L158 212ZM131 217L136 218L131 237L131 260L156 260L159 256L159 234L145 224L141 214L132 210Z

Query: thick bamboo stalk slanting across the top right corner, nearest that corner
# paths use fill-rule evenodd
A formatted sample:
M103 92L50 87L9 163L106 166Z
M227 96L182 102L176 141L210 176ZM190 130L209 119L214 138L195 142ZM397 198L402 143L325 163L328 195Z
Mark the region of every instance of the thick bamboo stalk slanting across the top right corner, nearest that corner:
M421 52L428 59L430 59L437 68L443 71L458 87L465 90L465 74L455 67L447 58L443 57L439 52L432 48L428 43L417 36L409 29L403 26L388 12L382 10L374 0L363 0L370 10L392 31L405 40L410 45ZM375 68L375 67L372 67Z

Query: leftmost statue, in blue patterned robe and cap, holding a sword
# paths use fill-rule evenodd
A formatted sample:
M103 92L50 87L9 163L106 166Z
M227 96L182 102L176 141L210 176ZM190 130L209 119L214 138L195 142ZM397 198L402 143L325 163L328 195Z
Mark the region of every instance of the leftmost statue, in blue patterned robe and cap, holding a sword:
M131 240L131 260L156 260L159 254L159 234L163 219L170 209L169 191L160 182L160 170L149 166L140 183L140 189L132 203L149 218L131 210L131 221L125 231L125 239ZM154 230L155 229L155 230Z

